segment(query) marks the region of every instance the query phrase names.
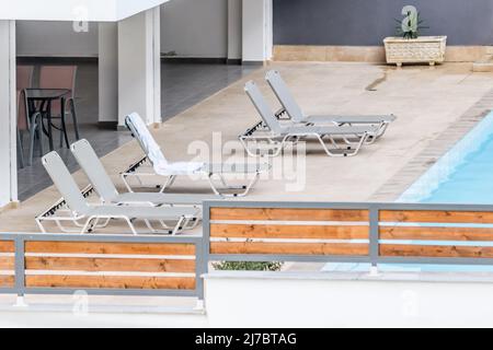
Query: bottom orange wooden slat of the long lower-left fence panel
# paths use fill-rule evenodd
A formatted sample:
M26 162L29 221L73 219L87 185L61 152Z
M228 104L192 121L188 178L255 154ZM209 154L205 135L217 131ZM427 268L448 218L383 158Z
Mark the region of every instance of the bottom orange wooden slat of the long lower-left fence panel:
M195 289L194 278L116 276L26 276L28 288Z

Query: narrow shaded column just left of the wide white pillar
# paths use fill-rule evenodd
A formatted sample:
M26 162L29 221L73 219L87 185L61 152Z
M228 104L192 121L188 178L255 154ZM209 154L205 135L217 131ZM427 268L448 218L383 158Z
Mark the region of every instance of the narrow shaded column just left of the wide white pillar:
M118 25L99 25L99 85L100 116L102 127L118 124Z

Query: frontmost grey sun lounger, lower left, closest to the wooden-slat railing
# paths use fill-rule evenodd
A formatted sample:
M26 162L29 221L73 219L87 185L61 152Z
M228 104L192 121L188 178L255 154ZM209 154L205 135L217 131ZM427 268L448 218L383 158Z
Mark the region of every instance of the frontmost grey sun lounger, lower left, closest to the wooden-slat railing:
M37 217L36 223L42 232L46 232L43 225L46 221L55 222L64 232L81 234L105 228L110 224L111 220L124 220L136 235L138 232L134 226L134 220L142 220L152 233L167 234L176 234L183 230L195 228L197 224L199 218L198 208L89 205L57 152L45 155L43 158L43 165L65 198L68 207L68 215L43 214ZM103 221L103 223L100 224L100 221ZM164 228L164 231L154 230L151 225L153 221L159 222ZM62 225L64 222L71 222L79 229L66 229ZM171 223L173 223L172 230L169 229Z

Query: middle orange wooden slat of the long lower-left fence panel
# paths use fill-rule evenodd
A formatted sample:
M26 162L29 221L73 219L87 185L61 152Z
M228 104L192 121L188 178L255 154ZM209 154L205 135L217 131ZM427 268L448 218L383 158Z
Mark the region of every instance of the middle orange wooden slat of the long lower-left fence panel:
M27 270L90 272L195 272L194 260L26 257Z

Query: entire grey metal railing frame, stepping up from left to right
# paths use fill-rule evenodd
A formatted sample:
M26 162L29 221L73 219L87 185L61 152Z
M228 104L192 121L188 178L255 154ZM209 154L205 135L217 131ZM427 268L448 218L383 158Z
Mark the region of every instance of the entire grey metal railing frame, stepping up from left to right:
M210 211L213 208L257 208L257 209L333 209L362 210L368 212L368 254L358 256L345 255L279 255L279 254L211 254L210 253ZM0 242L13 242L14 246L14 285L0 288L7 294L71 294L84 290L95 295L148 295L148 296L194 296L204 299L204 273L208 272L211 261L294 261L294 262L363 262L377 266L379 264L433 264L433 265L492 265L490 257L433 257L433 256L382 256L380 247L381 211L439 211L439 212L482 212L492 213L493 206L462 205L404 205L404 203L326 203L326 202L253 202L253 201L210 201L204 203L204 231L202 236L133 236L133 235L73 235L73 234L0 234ZM484 221L484 220L483 220ZM493 242L493 220L488 224L491 232L485 241ZM253 223L253 221L252 221ZM448 225L457 226L457 223ZM474 223L468 223L474 228ZM442 223L443 226L447 224ZM32 288L26 285L25 243L26 242L73 242L73 243L134 243L134 244L193 244L195 246L195 289L70 289L70 288ZM481 246L482 241L478 241ZM446 244L446 241L444 241ZM452 245L451 245L452 246ZM493 248L492 248L493 249ZM493 250L492 250L493 252ZM492 253L493 254L493 253Z

